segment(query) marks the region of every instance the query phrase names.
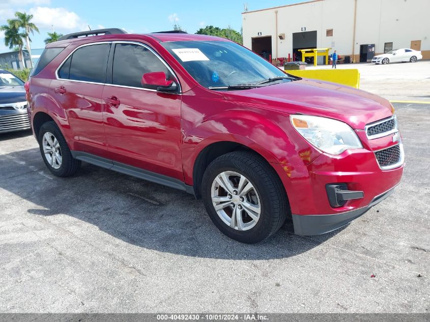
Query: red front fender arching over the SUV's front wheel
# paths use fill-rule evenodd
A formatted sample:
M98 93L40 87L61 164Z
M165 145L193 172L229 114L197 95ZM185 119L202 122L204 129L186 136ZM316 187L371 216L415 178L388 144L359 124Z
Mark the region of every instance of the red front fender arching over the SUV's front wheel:
M292 129L288 115L273 111L231 109L212 115L193 128L184 125L187 135L182 145L183 169L185 181L191 185L197 156L215 142L239 143L269 163L285 165L306 165L320 155Z

